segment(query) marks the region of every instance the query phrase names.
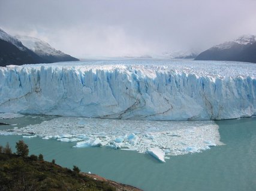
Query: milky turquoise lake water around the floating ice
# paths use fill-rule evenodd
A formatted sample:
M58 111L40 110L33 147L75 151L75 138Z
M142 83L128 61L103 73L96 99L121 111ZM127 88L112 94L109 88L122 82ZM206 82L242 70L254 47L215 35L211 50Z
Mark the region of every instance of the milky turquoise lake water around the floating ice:
M0 122L15 124L17 119ZM37 123L38 121L34 121ZM28 121L20 122L20 126ZM32 124L29 121L29 124ZM170 156L160 163L147 154L106 147L73 148L76 143L64 143L20 135L1 135L0 144L7 141L15 150L17 140L29 145L29 153L43 153L47 161L103 177L143 190L256 190L256 118L216 121L221 141L225 145L211 147L201 153ZM10 128L0 126L0 129Z

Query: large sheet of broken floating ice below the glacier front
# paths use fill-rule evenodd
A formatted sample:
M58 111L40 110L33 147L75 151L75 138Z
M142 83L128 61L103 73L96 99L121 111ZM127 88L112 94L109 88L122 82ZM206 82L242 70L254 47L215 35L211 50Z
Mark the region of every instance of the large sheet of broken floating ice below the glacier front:
M73 142L74 149L106 146L135 150L149 153L162 162L168 155L201 152L222 144L218 125L213 121L141 121L62 116L41 124L0 131L0 135Z

